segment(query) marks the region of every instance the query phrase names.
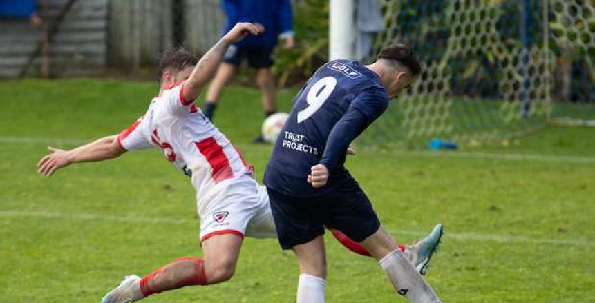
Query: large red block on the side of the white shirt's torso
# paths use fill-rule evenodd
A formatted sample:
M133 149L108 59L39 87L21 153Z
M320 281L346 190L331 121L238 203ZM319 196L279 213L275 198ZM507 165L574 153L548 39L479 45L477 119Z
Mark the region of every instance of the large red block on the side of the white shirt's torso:
M234 177L232 166L229 165L229 159L223 152L221 147L214 137L209 137L200 142L196 142L198 151L207 158L207 162L212 168L211 176L215 183Z

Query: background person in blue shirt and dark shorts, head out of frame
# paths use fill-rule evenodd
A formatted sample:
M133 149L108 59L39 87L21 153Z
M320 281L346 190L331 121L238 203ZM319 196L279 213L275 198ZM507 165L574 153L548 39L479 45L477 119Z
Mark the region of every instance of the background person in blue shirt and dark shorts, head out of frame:
M270 67L273 48L278 37L285 40L283 48L294 47L293 15L290 0L224 0L223 10L227 16L227 32L238 22L260 23L266 31L258 37L247 37L245 40L230 46L223 63L209 86L205 100L205 116L213 119L217 102L223 87L231 78L240 63L247 59L248 66L256 70L256 83L263 94L265 117L276 112L276 85ZM256 141L263 141L257 137Z

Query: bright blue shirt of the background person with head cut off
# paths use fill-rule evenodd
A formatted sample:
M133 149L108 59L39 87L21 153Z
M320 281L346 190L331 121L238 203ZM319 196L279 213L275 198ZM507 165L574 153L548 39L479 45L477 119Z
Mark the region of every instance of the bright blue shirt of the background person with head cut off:
M223 0L221 4L227 16L224 34L238 22L256 22L265 27L261 35L247 35L236 43L238 46L272 48L277 43L278 35L293 30L290 0Z

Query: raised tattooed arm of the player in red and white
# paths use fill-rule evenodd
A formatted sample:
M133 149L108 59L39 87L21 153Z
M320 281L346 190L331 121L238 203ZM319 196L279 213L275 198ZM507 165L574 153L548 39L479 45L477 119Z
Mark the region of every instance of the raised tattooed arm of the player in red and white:
M217 70L225 51L232 43L244 39L246 35L259 35L265 28L258 23L240 22L229 30L196 64L190 77L184 83L183 97L195 100L200 90L207 85Z

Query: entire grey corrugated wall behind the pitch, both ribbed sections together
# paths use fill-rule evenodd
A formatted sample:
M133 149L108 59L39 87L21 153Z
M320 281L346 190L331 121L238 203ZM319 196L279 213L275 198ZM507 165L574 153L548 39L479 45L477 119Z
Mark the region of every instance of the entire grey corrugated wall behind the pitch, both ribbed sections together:
M45 0L50 22L69 0ZM50 76L99 75L107 67L137 69L182 44L198 53L220 37L220 0L78 0L50 43ZM178 32L176 32L178 31ZM176 37L177 40L176 41ZM28 19L0 19L0 77L18 77L41 41ZM39 75L39 57L26 75Z

